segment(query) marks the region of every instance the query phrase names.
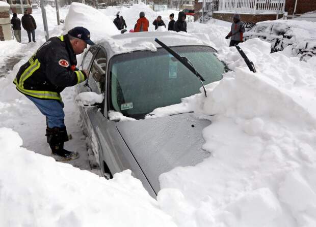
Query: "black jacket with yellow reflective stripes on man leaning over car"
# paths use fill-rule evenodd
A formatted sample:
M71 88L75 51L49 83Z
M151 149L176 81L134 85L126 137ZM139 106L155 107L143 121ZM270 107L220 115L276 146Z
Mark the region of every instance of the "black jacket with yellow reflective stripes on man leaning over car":
M76 64L68 35L52 37L20 67L13 83L35 98L61 100L62 90L87 79L84 71L74 71Z

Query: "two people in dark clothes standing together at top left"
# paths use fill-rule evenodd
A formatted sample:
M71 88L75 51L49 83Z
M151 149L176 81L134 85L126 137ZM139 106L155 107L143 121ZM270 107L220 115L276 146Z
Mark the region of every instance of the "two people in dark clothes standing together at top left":
M21 40L21 20L17 17L16 13L13 13L11 24L12 24L13 34L16 41L21 43L22 41ZM36 22L35 22L34 17L30 15L28 10L25 10L24 15L22 16L22 27L28 33L29 43L31 43L32 41L36 43L35 41ZM31 40L31 34L32 34L32 40Z

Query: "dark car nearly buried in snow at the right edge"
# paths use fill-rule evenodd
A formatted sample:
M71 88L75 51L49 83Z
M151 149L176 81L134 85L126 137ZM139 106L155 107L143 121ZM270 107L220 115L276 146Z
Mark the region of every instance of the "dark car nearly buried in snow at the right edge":
M271 43L271 51L307 60L316 54L316 23L310 21L276 20L257 23L244 34L244 39L260 38Z

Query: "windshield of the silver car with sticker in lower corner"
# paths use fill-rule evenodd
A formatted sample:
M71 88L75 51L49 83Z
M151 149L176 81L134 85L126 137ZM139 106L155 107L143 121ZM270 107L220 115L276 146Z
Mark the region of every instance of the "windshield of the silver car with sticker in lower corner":
M224 64L215 49L206 46L172 47L186 56L204 84L222 79ZM181 102L199 93L199 79L165 49L120 54L110 60L110 101L112 109L124 116L142 119L158 107Z

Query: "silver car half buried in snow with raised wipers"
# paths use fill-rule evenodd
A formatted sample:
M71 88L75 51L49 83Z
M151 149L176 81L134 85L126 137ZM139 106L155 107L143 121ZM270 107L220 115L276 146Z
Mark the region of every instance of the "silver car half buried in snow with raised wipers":
M111 177L130 169L152 197L160 190L160 174L209 156L202 149L201 132L210 124L192 112L165 117L152 113L199 93L201 87L196 75L155 38L186 56L205 84L222 79L226 68L214 48L188 35L148 32L117 35L90 47L82 62L90 76L78 87L101 97L81 113L102 174Z

